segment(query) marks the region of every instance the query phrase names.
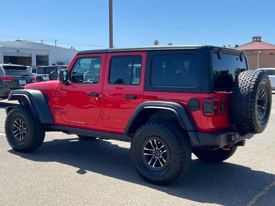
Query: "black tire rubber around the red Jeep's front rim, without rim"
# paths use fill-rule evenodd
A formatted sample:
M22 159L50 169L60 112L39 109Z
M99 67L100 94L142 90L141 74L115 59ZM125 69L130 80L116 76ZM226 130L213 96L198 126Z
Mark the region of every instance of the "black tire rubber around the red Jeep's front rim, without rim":
M12 136L12 122L18 117L26 122L28 128L23 142L17 142ZM39 118L34 117L28 106L20 105L9 111L5 121L5 133L12 149L18 152L30 152L42 145L45 138L45 125L40 123Z

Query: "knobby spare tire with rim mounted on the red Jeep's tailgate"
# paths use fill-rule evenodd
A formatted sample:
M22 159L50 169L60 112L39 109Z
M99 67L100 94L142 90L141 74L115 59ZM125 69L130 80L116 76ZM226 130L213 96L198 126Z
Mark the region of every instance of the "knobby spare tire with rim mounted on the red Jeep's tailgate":
M271 112L271 83L261 70L241 72L235 78L231 100L232 121L239 131L259 134Z

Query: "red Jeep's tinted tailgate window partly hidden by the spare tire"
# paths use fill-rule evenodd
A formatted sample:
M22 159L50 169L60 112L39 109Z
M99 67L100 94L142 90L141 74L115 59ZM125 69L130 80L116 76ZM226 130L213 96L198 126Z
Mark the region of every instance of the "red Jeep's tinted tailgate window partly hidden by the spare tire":
M219 59L217 53L213 53L214 89L232 89L241 68L247 68L245 57L241 61L237 55L222 53Z

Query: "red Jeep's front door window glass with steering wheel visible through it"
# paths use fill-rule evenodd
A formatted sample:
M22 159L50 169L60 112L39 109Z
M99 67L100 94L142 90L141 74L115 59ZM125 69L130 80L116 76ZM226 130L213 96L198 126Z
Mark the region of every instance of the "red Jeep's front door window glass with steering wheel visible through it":
M96 84L99 80L100 65L100 57L79 58L70 72L70 80L74 83Z

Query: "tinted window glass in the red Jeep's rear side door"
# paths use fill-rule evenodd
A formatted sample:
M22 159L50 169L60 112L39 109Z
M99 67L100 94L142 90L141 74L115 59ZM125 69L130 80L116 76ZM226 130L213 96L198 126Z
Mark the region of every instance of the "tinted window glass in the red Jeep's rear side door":
M111 58L109 83L138 85L141 77L141 56L114 56Z

